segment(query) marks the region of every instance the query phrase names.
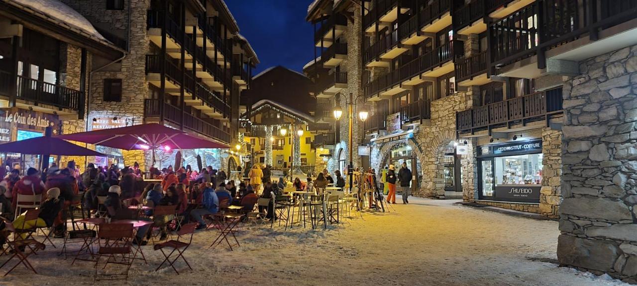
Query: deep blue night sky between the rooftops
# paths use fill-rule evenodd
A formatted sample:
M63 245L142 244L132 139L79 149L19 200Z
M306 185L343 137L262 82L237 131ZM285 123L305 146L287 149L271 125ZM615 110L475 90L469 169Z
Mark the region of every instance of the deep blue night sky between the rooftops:
M239 24L240 33L261 60L252 75L275 65L303 72L303 65L314 58L314 28L305 22L311 0L226 0L225 3Z

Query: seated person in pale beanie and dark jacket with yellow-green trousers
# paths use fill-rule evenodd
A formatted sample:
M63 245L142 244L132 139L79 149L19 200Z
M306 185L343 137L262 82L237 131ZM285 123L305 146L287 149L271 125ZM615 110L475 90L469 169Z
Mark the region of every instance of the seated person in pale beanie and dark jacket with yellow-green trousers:
M13 227L16 229L30 229L30 228L50 228L54 226L55 218L62 210L64 205L64 199L59 198L60 189L54 187L47 191L47 200L39 207L38 219L31 221L24 221L24 215L19 215L15 221L13 221ZM22 239L26 238L26 234L22 235Z

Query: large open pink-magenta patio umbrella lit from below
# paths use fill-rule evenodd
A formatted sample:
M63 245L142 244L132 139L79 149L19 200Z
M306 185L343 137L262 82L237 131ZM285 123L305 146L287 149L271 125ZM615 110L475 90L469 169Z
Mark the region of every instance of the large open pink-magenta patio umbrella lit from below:
M157 123L59 135L57 138L124 150L151 149L153 150L153 163L155 163L155 149L157 148L164 150L229 148L225 144L190 135Z

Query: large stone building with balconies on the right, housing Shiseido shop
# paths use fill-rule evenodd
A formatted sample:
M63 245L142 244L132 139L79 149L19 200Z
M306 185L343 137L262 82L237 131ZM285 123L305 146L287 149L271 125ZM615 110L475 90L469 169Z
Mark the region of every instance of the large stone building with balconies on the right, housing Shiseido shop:
M362 16L362 64L340 72L362 71L371 167L559 217L561 264L636 281L637 1L315 1L308 20L338 14Z

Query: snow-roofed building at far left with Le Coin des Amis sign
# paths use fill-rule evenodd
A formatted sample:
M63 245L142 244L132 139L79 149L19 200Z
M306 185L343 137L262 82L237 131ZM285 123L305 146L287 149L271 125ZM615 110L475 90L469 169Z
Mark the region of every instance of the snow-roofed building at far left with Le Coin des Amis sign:
M57 0L0 1L0 142L85 130L90 74L125 55ZM39 167L38 156L1 154L3 165ZM57 160L55 158L54 160ZM85 158L60 158L61 163Z

